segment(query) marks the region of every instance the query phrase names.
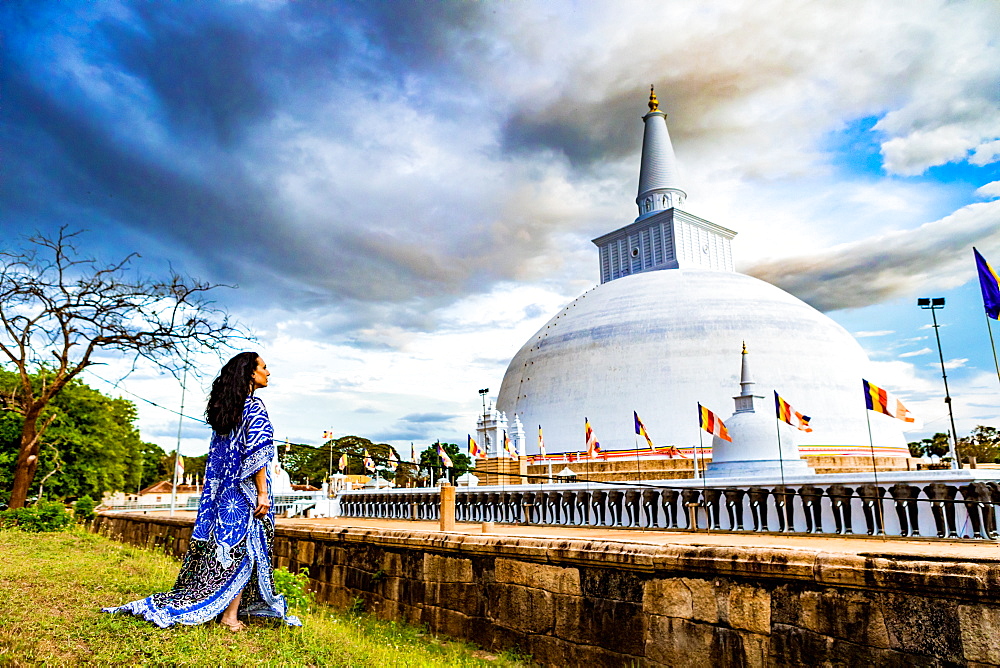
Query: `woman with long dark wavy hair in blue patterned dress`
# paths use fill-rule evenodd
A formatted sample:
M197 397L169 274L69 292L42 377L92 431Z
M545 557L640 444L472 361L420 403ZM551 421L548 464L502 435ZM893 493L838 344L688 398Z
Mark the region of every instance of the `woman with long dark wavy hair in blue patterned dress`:
M274 514L268 462L274 430L254 391L271 372L257 353L226 362L212 382L205 411L212 445L191 546L174 588L104 612L130 612L157 626L201 624L215 617L232 631L238 617L278 617L291 626L284 596L274 589Z

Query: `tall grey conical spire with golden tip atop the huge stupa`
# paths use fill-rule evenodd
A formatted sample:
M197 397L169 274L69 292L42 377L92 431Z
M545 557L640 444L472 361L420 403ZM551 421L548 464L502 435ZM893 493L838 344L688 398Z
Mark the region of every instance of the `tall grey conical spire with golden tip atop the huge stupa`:
M642 166L639 169L639 218L679 206L687 198L677 178L677 159L667 130L667 115L660 111L656 90L649 87L649 112L642 117ZM637 218L636 220L638 220Z

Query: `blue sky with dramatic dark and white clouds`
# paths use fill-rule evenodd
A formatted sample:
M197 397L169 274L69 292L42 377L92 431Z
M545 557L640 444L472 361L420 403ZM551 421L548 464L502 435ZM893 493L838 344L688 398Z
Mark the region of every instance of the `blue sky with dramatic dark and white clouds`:
M913 436L947 426L915 299L947 298L964 433L1000 419L971 250L1000 265L998 35L985 1L7 2L0 230L238 285L217 298L257 334L281 437L462 439L597 282L589 240L635 217L653 83L686 209L854 332ZM170 377L119 371L88 381L178 407ZM140 409L172 446L176 416Z

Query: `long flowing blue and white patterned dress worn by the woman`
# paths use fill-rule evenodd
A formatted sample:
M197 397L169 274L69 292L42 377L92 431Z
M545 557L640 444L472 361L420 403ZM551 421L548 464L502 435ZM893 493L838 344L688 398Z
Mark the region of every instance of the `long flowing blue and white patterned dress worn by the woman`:
M253 516L254 474L262 467L271 495L267 464L275 456L273 437L264 402L247 397L240 426L225 436L212 434L191 547L173 589L103 612L130 612L162 628L201 624L222 614L243 590L240 616L277 617L301 626L297 617L287 614L285 597L274 589L274 513L262 519Z

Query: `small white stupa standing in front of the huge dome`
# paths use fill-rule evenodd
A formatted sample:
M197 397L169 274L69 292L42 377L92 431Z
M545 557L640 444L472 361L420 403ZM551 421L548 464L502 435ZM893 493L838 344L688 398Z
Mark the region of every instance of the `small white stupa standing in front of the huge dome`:
M747 347L743 344L740 393L733 397L736 410L725 420L732 442L712 439L712 462L706 477L776 477L815 473L799 455L796 430L775 417L773 405L754 394ZM778 440L781 440L779 451Z

